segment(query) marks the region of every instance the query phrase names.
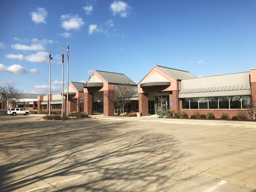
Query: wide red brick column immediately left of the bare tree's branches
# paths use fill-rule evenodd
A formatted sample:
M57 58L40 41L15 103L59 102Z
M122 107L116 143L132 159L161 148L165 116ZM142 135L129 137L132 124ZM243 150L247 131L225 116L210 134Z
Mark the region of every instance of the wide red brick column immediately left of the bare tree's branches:
M114 115L114 91L107 90L103 92L103 115L104 116L113 116ZM111 99L110 99L111 98Z

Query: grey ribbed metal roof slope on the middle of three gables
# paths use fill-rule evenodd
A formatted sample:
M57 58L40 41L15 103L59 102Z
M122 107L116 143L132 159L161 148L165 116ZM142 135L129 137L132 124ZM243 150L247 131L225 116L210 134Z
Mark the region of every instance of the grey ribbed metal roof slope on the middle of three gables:
M95 70L107 83L137 85L125 74Z

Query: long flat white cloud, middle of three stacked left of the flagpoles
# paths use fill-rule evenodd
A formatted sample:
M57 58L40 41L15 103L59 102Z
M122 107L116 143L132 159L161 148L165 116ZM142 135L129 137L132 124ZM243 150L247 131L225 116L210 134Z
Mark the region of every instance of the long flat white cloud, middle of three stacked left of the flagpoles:
M36 54L31 54L29 56L23 56L23 55L14 55L14 54L8 54L6 55L9 59L19 59L20 61L29 61L29 62L37 62L37 63L48 63L49 62L49 53L40 51Z

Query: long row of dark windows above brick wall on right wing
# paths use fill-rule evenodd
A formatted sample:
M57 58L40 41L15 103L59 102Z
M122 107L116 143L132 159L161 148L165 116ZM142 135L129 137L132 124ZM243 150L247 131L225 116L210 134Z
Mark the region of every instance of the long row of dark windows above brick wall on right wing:
M247 109L251 96L184 98L181 101L182 109Z

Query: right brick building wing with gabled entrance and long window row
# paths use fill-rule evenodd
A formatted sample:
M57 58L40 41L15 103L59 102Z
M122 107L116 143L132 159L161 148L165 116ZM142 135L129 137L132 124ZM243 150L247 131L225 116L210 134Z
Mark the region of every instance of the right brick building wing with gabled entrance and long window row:
M154 66L139 82L139 111L142 116L156 114L158 96L174 112L193 115L212 113L220 118L230 117L240 110L247 110L251 101L256 102L256 68L249 72L196 77L190 72ZM148 103L148 105L147 105Z

